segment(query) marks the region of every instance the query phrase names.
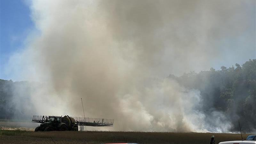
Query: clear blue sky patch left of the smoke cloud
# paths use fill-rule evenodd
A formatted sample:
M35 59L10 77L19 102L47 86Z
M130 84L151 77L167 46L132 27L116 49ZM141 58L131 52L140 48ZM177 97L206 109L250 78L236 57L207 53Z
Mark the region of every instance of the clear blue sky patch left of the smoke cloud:
M1 79L11 79L3 73L13 52L24 48L29 32L34 28L30 9L24 0L0 0L1 3Z

